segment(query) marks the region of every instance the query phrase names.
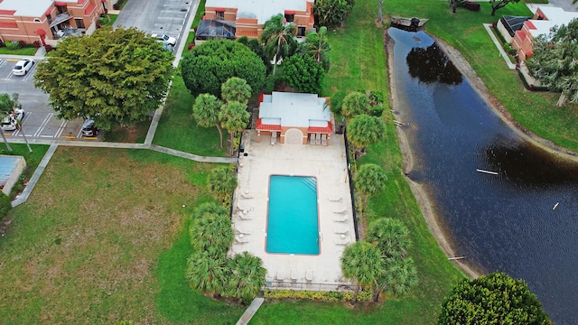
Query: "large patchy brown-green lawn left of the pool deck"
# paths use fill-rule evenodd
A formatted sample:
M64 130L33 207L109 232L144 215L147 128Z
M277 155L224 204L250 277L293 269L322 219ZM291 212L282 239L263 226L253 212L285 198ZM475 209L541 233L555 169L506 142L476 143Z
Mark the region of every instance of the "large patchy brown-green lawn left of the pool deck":
M233 323L193 292L185 219L212 166L152 151L59 148L0 240L7 324ZM185 205L183 208L182 205Z

